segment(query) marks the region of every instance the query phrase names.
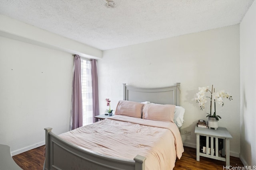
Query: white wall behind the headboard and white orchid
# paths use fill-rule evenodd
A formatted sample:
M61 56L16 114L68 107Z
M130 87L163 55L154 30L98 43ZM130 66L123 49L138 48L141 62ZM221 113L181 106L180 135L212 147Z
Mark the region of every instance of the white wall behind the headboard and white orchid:
M181 82L181 106L186 109L181 134L186 146L196 146L194 127L198 119L206 120L192 99L198 86L211 86L230 92L234 100L217 106L222 117L220 127L226 127L231 155L240 152L240 71L239 25L199 33L131 45L103 52L98 60L99 101L102 113L107 108L105 98L115 109L122 100L122 83L140 87L160 87ZM191 135L184 134L191 131Z

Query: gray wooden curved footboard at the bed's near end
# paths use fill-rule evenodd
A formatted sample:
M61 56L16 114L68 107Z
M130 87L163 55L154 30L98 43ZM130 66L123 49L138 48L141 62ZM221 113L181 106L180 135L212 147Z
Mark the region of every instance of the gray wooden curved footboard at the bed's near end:
M46 150L44 170L144 170L146 157L134 160L112 158L64 141L45 128Z

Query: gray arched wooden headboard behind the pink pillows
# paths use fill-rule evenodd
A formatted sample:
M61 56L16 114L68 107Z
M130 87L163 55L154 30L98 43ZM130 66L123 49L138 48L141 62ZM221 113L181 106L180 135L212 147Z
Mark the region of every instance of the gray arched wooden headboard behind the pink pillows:
M146 102L156 104L173 104L180 106L180 83L174 86L160 88L140 88L123 84L124 98L133 102Z

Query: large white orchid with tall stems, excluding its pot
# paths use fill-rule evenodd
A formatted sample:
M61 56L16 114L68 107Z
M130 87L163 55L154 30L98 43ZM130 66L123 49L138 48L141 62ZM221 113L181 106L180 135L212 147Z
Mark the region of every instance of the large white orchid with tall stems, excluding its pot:
M212 85L212 90L209 90L209 86L206 87L199 87L199 92L196 94L196 103L198 103L198 106L200 107L200 110L204 109L204 106L207 102L207 99L210 99L210 113L206 113L208 114L206 117L215 117L217 120L219 120L219 118L221 119L221 117L219 115L216 115L216 105L215 102L217 102L218 104L220 104L220 106L224 105L224 102L222 100L222 98L227 98L228 100L233 100L232 96L230 96L229 93L225 93L224 90L220 90L219 92L215 92L215 89L213 88ZM211 96L205 96L206 92L210 92ZM212 114L212 101L214 101L214 113Z

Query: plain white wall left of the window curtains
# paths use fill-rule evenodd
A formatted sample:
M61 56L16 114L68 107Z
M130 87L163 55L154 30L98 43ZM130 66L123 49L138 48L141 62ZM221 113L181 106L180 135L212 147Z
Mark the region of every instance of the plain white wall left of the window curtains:
M0 143L13 155L68 131L72 55L0 37Z

